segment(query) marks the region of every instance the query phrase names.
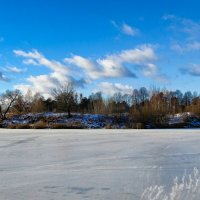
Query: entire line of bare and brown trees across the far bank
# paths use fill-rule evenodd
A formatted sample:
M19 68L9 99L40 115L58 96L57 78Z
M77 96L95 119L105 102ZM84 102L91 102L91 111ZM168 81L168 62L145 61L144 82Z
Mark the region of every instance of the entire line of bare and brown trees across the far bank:
M127 114L134 122L147 124L161 123L166 115L192 112L200 116L200 96L197 92L169 91L166 89L134 89L132 94L115 93L104 97L101 92L92 93L89 97L78 94L71 84L52 90L52 98L45 99L41 94L28 91L22 94L19 90L0 95L0 119L11 115L66 112L91 113L105 115Z

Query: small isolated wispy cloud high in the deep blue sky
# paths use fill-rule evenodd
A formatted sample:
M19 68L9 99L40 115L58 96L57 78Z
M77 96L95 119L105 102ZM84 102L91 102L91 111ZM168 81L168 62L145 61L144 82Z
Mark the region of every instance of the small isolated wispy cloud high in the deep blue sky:
M117 22L115 22L114 20L111 20L111 24L118 29L121 33L125 34L125 35L129 35L129 36L137 36L140 31L139 29L127 24L127 23L122 23L122 24L118 24Z

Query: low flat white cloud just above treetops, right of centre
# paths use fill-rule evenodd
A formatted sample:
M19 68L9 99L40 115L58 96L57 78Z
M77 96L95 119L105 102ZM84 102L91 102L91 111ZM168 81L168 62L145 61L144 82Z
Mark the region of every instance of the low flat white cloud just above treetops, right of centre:
M109 83L109 82L102 82L98 85L98 88L94 90L94 92L102 92L105 95L113 95L115 93L121 94L132 94L133 87L130 85L124 85L121 83Z

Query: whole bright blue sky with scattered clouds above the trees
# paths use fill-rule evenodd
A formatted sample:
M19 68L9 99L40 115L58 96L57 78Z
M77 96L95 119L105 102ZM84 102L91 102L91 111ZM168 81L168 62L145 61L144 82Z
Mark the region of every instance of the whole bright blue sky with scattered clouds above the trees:
M0 0L0 92L199 92L198 0Z

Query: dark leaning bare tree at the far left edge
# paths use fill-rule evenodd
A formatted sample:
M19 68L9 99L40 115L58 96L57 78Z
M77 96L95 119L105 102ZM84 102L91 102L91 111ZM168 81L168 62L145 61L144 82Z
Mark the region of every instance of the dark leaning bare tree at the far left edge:
M0 96L0 119L7 119L7 114L14 108L17 99L21 96L19 90L7 90Z

